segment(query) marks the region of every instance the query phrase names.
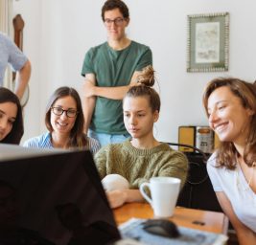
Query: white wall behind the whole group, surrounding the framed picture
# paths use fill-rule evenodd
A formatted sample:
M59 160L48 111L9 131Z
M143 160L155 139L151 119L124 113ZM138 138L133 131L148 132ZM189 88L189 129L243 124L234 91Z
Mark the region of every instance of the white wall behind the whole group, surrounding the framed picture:
M26 21L24 51L33 63L32 97L25 115L24 139L44 131L44 108L58 86L74 86L81 92L83 56L91 46L106 38L101 20L104 2L14 2L15 11L21 12ZM128 36L149 45L153 53L162 100L155 128L159 140L176 142L179 125L207 124L201 95L208 80L220 76L255 79L255 1L126 0L126 3L131 18ZM229 71L186 73L187 15L219 11L230 13Z

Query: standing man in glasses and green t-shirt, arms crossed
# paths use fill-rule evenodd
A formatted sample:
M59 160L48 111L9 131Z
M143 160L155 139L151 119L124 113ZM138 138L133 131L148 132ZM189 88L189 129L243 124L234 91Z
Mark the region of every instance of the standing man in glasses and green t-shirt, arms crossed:
M122 100L142 69L152 64L151 49L128 39L127 5L107 0L102 9L107 41L85 55L81 75L85 132L101 145L120 143L129 135L123 122Z

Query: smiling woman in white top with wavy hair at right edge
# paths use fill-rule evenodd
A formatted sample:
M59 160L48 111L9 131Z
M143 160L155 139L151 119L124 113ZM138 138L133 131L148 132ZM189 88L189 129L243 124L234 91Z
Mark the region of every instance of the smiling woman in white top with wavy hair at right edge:
M203 103L221 141L207 164L213 188L240 244L256 244L256 86L217 78Z

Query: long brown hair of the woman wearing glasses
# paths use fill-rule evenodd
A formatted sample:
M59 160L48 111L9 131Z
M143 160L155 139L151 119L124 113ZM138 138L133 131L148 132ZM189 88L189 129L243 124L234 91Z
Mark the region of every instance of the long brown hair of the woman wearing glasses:
M46 106L45 124L47 129L52 133L54 129L51 124L51 108L58 99L67 96L71 96L76 101L78 111L76 122L70 132L70 140L68 146L82 148L87 146L87 141L83 133L84 119L81 108L81 99L79 93L74 88L60 87L54 92Z

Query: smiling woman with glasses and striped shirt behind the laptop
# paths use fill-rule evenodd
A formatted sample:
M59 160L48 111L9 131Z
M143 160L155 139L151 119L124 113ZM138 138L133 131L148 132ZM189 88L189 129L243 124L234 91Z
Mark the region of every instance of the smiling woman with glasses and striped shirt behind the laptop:
M60 87L46 107L45 124L49 132L24 143L26 147L88 148L95 153L100 144L83 133L81 99L74 88Z

